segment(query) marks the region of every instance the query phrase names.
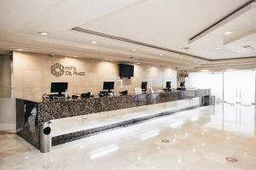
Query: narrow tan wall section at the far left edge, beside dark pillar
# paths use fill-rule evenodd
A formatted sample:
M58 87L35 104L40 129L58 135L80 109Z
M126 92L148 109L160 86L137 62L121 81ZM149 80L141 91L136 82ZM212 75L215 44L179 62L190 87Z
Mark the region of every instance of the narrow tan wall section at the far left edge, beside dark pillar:
M0 98L11 97L11 68L9 56L0 55Z

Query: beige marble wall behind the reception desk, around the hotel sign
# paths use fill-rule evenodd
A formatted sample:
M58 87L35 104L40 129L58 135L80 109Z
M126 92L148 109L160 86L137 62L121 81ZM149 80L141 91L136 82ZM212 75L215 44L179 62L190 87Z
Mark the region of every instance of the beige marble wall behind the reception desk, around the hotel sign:
M76 66L78 71L84 71L85 76L55 77L50 73L51 65ZM42 94L49 94L50 82L68 82L68 94L80 94L86 91L98 93L106 81L115 82L115 91L119 92L119 63L55 56L14 52L14 97L22 99L41 99ZM148 82L152 88L163 88L166 81L172 82L176 88L177 71L170 68L135 65L135 77L124 78L123 86L129 91L140 87L141 82Z

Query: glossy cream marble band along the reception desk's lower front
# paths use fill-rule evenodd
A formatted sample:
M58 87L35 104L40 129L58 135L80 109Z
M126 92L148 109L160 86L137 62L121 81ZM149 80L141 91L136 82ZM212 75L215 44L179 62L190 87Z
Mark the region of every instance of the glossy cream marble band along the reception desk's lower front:
M174 111L200 105L200 99L183 99L155 105L143 105L117 111L105 111L84 116L73 116L52 120L52 136L103 127L110 124L124 122L144 116L153 116L166 111Z

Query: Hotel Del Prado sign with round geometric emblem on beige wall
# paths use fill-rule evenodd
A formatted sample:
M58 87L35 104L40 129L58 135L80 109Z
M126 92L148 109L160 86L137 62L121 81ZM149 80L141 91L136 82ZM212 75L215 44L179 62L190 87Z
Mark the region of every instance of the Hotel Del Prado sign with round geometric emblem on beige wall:
M55 75L55 77L61 77L64 74L66 76L85 76L85 72L77 71L77 68L75 66L64 66L60 63L55 63L54 65L51 65L50 72L51 74Z

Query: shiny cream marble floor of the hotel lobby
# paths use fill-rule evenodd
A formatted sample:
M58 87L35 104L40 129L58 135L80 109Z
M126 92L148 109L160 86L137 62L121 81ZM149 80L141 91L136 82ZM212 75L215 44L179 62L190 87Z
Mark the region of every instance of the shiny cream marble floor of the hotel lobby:
M0 169L255 170L255 119L254 106L204 106L57 145L47 154L15 134L0 134Z

